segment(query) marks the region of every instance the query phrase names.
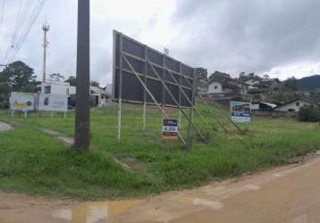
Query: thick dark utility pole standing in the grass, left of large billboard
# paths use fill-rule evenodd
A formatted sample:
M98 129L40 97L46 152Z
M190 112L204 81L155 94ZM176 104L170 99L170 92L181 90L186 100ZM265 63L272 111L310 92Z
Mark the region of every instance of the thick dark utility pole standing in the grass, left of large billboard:
M74 148L90 146L90 1L78 0L77 95Z

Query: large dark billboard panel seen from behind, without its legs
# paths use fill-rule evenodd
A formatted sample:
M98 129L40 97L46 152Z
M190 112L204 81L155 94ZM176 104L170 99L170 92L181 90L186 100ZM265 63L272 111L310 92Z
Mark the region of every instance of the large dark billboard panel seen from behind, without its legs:
M181 107L191 106L195 76L192 67L114 31L113 100L119 101L121 95L123 103L144 103L146 99L146 103L154 104L134 71L158 104L177 107L164 81Z

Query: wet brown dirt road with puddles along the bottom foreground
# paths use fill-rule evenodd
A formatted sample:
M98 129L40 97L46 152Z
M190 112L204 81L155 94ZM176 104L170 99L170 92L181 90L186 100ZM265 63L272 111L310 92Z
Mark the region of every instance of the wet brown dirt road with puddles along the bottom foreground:
M320 222L320 157L145 200L74 202L0 193L0 222Z

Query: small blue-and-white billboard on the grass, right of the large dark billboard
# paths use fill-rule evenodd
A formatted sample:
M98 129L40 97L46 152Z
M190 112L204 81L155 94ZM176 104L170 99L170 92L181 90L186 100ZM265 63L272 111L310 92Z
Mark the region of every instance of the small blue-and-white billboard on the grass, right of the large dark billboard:
M251 103L231 102L231 119L236 123L251 122Z

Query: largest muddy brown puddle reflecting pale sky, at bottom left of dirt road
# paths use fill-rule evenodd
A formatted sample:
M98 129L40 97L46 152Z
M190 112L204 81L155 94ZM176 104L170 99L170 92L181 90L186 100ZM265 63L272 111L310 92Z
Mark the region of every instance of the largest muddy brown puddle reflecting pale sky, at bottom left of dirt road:
M129 211L133 207L143 204L143 200L119 202L85 202L73 206L71 209L54 211L55 219L63 219L72 223L97 223Z

